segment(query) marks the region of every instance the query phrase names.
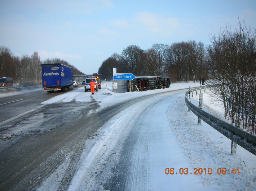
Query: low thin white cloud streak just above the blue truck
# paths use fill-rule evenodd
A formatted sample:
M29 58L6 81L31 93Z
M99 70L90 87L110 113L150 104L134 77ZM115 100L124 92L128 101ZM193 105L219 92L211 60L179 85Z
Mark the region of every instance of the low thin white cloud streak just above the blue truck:
M75 59L75 60L81 60L82 56L77 55L77 54L70 54L70 53L62 53L59 51L54 51L54 52L47 52L45 50L40 50L38 51L38 54L41 58L43 59L48 59L48 58L59 58L59 59Z

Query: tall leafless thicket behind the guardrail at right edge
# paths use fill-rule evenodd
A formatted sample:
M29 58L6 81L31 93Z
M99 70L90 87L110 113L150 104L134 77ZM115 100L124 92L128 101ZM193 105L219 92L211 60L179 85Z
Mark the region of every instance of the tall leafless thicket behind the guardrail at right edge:
M211 67L209 84L219 92L225 117L255 135L256 121L256 46L255 31L240 23L234 33L225 27L212 35L208 46Z

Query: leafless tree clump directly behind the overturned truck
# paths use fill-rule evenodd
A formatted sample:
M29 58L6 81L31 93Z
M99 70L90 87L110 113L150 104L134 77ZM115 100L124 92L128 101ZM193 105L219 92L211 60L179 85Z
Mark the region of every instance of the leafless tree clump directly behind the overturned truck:
M118 73L132 73L135 76L168 76L172 81L198 81L207 78L206 48L202 42L188 41L154 44L147 50L130 45L119 55L114 53L102 62L98 73L103 79L112 79L112 68Z

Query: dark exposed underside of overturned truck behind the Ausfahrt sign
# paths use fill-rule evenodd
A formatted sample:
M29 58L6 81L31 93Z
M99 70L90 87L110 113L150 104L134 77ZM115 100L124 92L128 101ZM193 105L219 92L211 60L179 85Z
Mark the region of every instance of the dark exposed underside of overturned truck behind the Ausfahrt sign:
M162 76L139 76L132 80L132 91L169 88L171 79ZM136 88L137 86L137 88Z

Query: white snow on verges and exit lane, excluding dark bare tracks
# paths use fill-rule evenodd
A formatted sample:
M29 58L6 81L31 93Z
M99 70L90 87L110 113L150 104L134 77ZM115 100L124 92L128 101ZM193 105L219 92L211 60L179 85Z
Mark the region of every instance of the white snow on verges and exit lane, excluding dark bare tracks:
M113 103L146 94L164 93L182 88L187 88L188 90L189 85L193 88L197 87L198 83L175 83L171 84L171 87L167 89L145 92L113 93L112 83L106 83L102 84L102 89L94 94L93 98L100 102L101 107L98 110L101 110ZM74 99L76 102L86 102L84 96L82 96L83 94L81 94L81 89L83 87L58 95L43 103L70 102L74 101ZM156 128L150 129L152 131L151 134L154 136L147 135L149 136L147 139L150 139L147 151L139 149L140 152L150 152L150 154L140 153L140 156L147 156L147 165L149 165L147 169L150 171L148 172L148 179L150 180L147 180L144 186L137 185L133 187L131 185L129 188L133 190L138 190L138 188L142 190L256 190L256 156L239 145L237 146L237 154L231 155L231 141L229 139L204 121L201 121L201 125L197 125L197 116L193 112L189 112L185 105L185 92L176 94L168 102L156 105L156 110L166 118L154 121ZM217 105L216 101L208 94L211 91L207 90L208 93L204 93L204 90L202 90L202 92L203 109L223 117L223 110L220 105ZM87 92L87 94L90 93ZM191 102L195 103L195 105L198 104L198 96L199 90L198 95L194 94L193 97L191 95ZM142 104L145 103L141 102L136 107L133 107L134 112L140 110ZM146 116L147 120L156 118L154 112L150 111ZM100 150L102 152L102 149L106 147L106 142L111 145L109 141L114 142L122 136L122 130L117 131L116 127L120 127L120 124L122 126L122 120L124 118L129 119L131 113L129 112L120 118L117 116L109 123L109 126L104 126L100 129L97 138L94 139L98 142L95 142L91 152L89 152L89 156L82 155L79 170L73 178L69 190L91 190L93 188L93 186L81 187L85 182L85 178L88 178L87 181L93 183L93 180L89 179L92 177L86 176L89 171L87 167L93 162L93 159L97 158L98 152ZM122 113L122 115L124 114ZM144 123L142 125L147 125L146 121ZM151 125L148 124L148 126ZM148 132L149 129L146 131ZM141 144L141 142L139 143ZM143 157L140 159L144 160ZM232 173L232 171L235 173ZM170 174L170 172L174 172L174 174ZM188 174L186 174L187 172ZM134 169L134 173L136 173L136 169ZM56 178L57 174L53 174L42 184L39 190L57 188L57 185L55 185L56 187L54 186ZM142 184L141 181L137 183Z

